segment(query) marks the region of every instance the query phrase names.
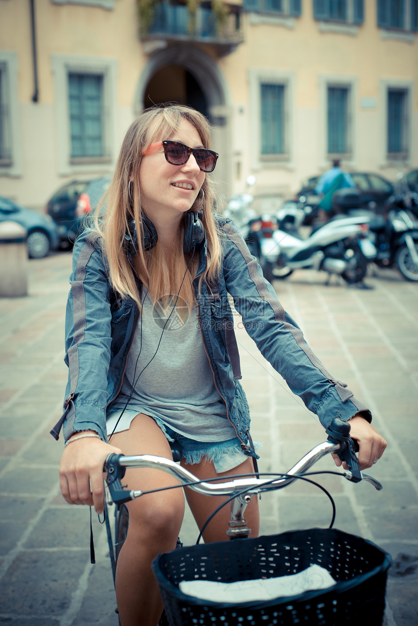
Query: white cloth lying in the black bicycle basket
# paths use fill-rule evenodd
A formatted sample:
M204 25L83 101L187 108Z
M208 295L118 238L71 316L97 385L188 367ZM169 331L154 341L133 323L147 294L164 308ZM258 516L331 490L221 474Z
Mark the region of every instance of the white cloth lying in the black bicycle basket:
M222 583L216 580L182 580L180 591L211 602L251 602L298 595L312 589L326 589L335 585L332 575L320 565L310 565L306 570L276 578L256 578Z

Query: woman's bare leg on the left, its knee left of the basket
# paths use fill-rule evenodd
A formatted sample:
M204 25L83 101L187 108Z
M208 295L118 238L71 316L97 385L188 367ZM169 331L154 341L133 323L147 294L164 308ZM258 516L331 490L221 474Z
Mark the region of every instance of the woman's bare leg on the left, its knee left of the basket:
M112 443L123 454L156 454L172 458L170 445L154 419L138 414L128 431L114 434ZM128 469L130 489L160 488L175 480L158 469ZM156 626L162 600L151 570L160 552L174 550L184 516L181 489L160 491L127 503L129 528L116 570L116 596L122 626Z

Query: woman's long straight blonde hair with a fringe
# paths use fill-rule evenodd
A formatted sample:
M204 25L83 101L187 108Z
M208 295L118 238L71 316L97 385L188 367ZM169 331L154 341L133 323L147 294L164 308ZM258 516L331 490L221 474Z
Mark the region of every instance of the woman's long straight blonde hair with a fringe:
M100 207L93 216L94 229L102 237L113 289L122 297L132 297L139 307L141 304L135 271L142 283L149 287L153 302L162 300L167 305L170 295L180 294L189 309L194 303L192 279L196 276L199 254L195 253L192 258L185 257L182 249L183 222L180 223L175 245L170 251L157 242L150 252L144 253L142 245L138 243L137 254L133 258L135 271L123 248L128 221L132 218L137 227L138 242L144 237L138 175L142 155L155 141L174 135L181 120L191 122L202 144L211 148L211 126L198 111L182 105L154 106L143 111L130 125L123 140L115 174L104 198L105 210ZM207 267L199 279L199 290L202 280L216 279L221 267L221 244L213 215L214 200L213 182L206 174L201 191L190 209L199 211L206 230Z

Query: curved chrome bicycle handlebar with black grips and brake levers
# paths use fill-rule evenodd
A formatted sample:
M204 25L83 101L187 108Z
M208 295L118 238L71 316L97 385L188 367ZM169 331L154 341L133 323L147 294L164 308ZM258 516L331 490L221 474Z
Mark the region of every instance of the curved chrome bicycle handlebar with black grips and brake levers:
M382 485L371 476L362 474L358 466L358 459L355 456L355 443L350 439L350 424L341 419L334 419L327 428L328 440L315 446L308 454L291 468L286 475L277 480L269 478L236 478L223 483L210 483L201 481L187 469L174 463L170 459L152 454L142 454L139 456L123 456L123 454L110 454L105 461L104 471L107 472L107 485L110 496L115 504L121 504L133 500L142 495L142 491L127 491L122 486L122 478L126 468L152 468L162 469L166 473L174 476L182 485L189 486L197 493L212 496L233 496L245 491L249 495L258 494L262 491L275 490L288 485L298 476L303 475L316 461L319 461L325 454L337 453L338 457L347 463L347 470L342 474L347 480L358 483L366 480L380 491Z

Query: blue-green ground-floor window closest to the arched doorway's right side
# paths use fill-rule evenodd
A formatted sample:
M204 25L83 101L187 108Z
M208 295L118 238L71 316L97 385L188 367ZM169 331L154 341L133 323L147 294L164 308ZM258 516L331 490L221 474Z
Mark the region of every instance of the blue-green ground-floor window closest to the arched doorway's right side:
M285 85L261 83L261 155L284 155Z

